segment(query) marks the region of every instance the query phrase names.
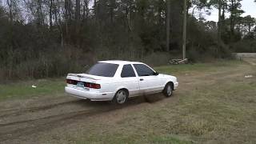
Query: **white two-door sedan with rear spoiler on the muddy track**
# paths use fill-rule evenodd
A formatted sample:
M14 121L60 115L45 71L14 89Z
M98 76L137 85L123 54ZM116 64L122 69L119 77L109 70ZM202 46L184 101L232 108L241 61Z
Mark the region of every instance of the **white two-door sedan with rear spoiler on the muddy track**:
M142 62L113 60L96 63L86 74L68 74L65 91L77 98L123 104L143 94L170 97L177 87L176 77L158 74Z

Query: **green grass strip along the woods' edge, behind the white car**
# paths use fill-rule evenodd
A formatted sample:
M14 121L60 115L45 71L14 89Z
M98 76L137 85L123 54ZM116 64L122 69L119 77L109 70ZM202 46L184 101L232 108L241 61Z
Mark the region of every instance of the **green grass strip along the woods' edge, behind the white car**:
M225 66L235 66L241 64L239 61L219 61L214 63L196 63L193 65L170 65L155 67L161 73L165 74L184 74L194 71L213 71L216 68ZM6 85L0 85L0 101L10 98L31 98L46 94L58 94L64 92L65 78L48 78L34 81L16 82ZM32 85L37 88L32 88Z

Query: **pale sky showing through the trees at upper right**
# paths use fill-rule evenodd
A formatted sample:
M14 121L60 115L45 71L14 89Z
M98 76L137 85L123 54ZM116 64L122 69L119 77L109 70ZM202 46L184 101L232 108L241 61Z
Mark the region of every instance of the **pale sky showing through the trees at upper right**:
M251 15L252 17L256 18L256 2L254 0L242 0L242 10L245 11L242 16ZM211 10L210 16L203 14L203 16L206 17L206 20L208 21L215 21L218 22L218 10L213 9Z

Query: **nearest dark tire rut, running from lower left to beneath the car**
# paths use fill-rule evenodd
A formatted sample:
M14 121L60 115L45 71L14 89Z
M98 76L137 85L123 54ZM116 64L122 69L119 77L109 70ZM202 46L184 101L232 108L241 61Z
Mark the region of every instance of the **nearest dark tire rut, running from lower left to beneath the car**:
M142 102L145 102L143 98L132 98L130 102L123 106L106 104L99 106L99 108L89 110L80 110L66 114L50 115L49 117L44 118L27 119L18 122L0 124L0 142L10 140L11 138L19 138L30 134L36 134L38 132L44 132L59 126L65 126L70 122L75 122L77 119L88 118L94 115L108 113L113 110L128 108Z

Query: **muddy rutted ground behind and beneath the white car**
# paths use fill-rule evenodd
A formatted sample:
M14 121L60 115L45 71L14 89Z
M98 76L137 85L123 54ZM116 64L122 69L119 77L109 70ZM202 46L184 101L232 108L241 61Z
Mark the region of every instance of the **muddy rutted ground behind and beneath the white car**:
M150 102L164 98L161 94L154 98L148 97ZM46 96L20 102L2 102L0 143L9 143L11 139L47 132L92 116L110 114L121 109L129 110L130 107L142 106L145 102L143 97L131 98L124 106L118 106L111 102L90 102L66 94L57 98Z

